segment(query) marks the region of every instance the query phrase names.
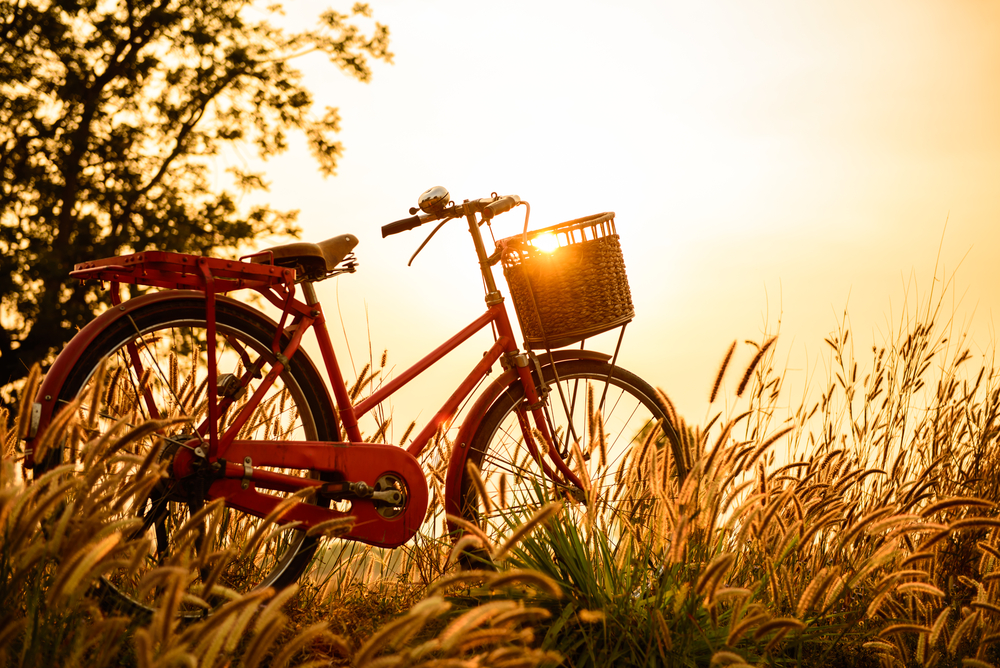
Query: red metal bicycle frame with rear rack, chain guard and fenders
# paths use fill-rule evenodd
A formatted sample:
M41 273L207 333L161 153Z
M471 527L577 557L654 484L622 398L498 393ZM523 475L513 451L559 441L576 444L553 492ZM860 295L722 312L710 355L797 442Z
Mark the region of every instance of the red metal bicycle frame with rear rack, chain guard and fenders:
M280 473L268 470L268 468L334 473L342 480L363 481L369 485L374 483L375 479L383 472L392 471L405 480L408 494L406 509L399 517L386 518L378 512L371 501L352 498L352 508L349 513L306 503L296 503L284 510L280 521L300 522L306 527L313 527L327 520L350 515L355 518L355 524L350 532L344 536L345 538L385 547L394 547L406 542L423 523L428 502L425 473L416 458L427 449L428 444L442 428L450 425L462 402L480 385L498 361L505 367L504 373L486 389L480 400L473 405L459 429L458 439L448 467L446 510L457 514L461 502L461 499L458 498L459 485L457 483L464 468L466 458L464 449L467 447L468 439L475 433L479 420L482 419L492 401L511 382L520 380L524 387L527 404L526 414L531 415L531 420L537 429L536 433L549 441L550 446L553 440L553 435L549 432L548 422L545 419L543 397L540 396L532 378L531 360L528 355L520 353L517 348L503 298L493 281L491 267L495 264L495 259L491 260L485 252L479 232L479 223L476 221L475 215L470 212L466 217L469 221L470 232L473 235L486 284L486 311L413 366L386 382L385 385L357 404L353 404L348 395L347 386L337 362L326 327L326 319L313 283L303 282L299 284L302 296L299 298L295 273L292 269L161 251L137 253L131 256L107 258L77 265L72 272L73 276L110 282L113 308L81 330L53 364L39 390L39 402L35 404L29 436L34 439L52 421L57 408L53 397L59 396L59 390L65 382L67 374L73 368L82 351L102 329L117 319L129 317L130 311L149 303L190 299L192 295L197 295L203 298L206 304L208 417L195 430L194 436L184 444L185 447L178 450L173 461L174 475L178 479L184 479L215 465L216 473L207 489L206 498L224 497L226 503L234 508L265 517L278 510L282 499L274 495L263 494L257 491L258 488L281 492L300 492L308 489L323 491L327 484L320 479ZM123 302L119 292L121 283L152 285L168 288L168 290ZM241 407L239 416L225 432L219 433L217 429L218 416L222 415L233 404L234 398L232 394L221 400L218 396L214 350L216 302L217 300L225 300L230 308L241 308L259 317L259 312L236 300L229 299L223 294L237 289L253 289L281 310L280 320L275 323L275 340L272 345L276 362L273 363L268 375L257 384L250 399ZM391 445L363 442L358 423L360 417L382 404L400 388L486 327L492 327L495 332L493 345L445 401L444 405L413 438L409 447L403 449ZM249 416L253 414L261 398L284 371L287 361L296 354L304 356L304 352L299 352L299 348L303 336L310 329L313 330L319 345L323 366L333 390L333 399L346 432L342 434L344 440L329 443L236 439L236 435ZM289 341L281 349L279 344L283 334L289 335ZM130 343L126 348L132 365L141 375L142 360L135 344ZM559 351L552 358L569 359L593 357L594 355L599 355L602 358L607 357L586 351ZM309 360L308 356L306 359ZM312 364L311 361L310 364ZM245 370L243 377L239 379L242 390L249 387L253 375L253 369ZM148 389L145 391L144 400L150 416L154 419L159 418L160 415L149 396ZM329 401L329 395L327 395L327 400ZM553 482L581 486L580 481L559 456L558 448L544 448L548 451L548 461L540 455L542 449L538 448L535 443L532 428L527 422L526 415L521 418L521 428L526 446L532 456L542 463L546 475ZM32 443L33 440L29 442L26 456L26 463L29 466L34 464L33 452L30 447Z

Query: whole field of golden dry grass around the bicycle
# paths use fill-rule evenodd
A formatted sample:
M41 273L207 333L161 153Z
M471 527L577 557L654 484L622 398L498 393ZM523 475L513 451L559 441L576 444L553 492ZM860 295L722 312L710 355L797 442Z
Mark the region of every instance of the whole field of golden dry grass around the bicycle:
M791 408L773 338L747 368L720 351L725 408L670 415L584 504L522 492L470 539L498 570L458 571L431 537L332 539L299 587L184 624L197 531L147 573L152 615L98 605L101 576L148 553L116 509L163 464L105 438L25 483L24 416L5 416L0 665L1000 665L1000 379L951 334L933 300L870 354L839 327Z

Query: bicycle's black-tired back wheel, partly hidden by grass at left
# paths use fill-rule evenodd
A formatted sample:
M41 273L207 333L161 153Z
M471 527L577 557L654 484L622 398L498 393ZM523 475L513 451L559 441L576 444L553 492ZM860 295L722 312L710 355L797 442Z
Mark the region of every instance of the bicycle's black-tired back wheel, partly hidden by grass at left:
M139 350L142 363L149 369L145 387L150 389L154 397L160 417L167 415L189 415L198 424L201 417L199 410L204 411L204 401L199 396L205 394L205 376L207 368L201 350L207 341L206 309L204 299L177 299L156 302L140 307L130 313L128 318L114 321L100 334L93 344L77 360L67 374L66 381L59 392L60 405L64 405L77 396L87 396L88 388L95 381L95 374L102 362L107 360L105 381L106 389L101 392L100 405L97 407L96 432L110 428L115 420L129 411L137 410L139 415L135 423L142 418L150 417L148 406L142 400L136 388L140 386L136 369L128 359L128 344L133 343ZM227 372L237 376L240 367L246 367L247 361L254 362L257 358L264 359L264 367L257 378L266 377L270 365L274 362L271 345L274 342L276 325L262 314L250 311L245 307L228 303L225 299L217 299L215 305L216 338L217 338L217 374ZM288 337L282 335L282 345ZM255 383L252 383L251 390ZM304 351L297 352L279 375L275 385L269 390L261 402L261 407L267 407L270 416L256 412L252 423L249 423L241 438L253 438L255 434L281 431L283 438L292 440L338 441L339 429L336 414L325 395L317 394L313 388L322 388L322 380L313 364L306 358ZM131 392L131 393L130 393ZM246 396L252 392L247 392ZM124 395L124 399L122 396ZM200 404L200 408L199 408ZM236 406L237 404L234 404ZM91 410L90 403L80 407L81 419ZM229 411L222 416L226 420L235 411ZM187 431L184 431L184 430ZM96 434L91 432L90 437ZM172 438L172 441L170 438ZM177 427L167 434L170 444L165 447L161 458L168 456L170 448L176 449L177 443L193 437L193 428L189 425ZM263 433L260 437L267 438ZM277 437L277 436L272 436ZM132 444L133 454L142 455L148 448L157 447L154 439L147 438ZM72 459L73 453L61 453L58 460ZM49 459L45 466L54 462ZM103 462L109 472L115 464ZM150 538L150 550L156 554L147 554L139 563L135 572L119 572L105 576L101 581L101 589L105 592L102 602L106 607L125 609L132 612L152 611L156 604L155 593L149 595L137 594L139 580L146 572L164 562L172 554L175 547L172 543L172 530L175 530L190 516L189 502L175 498L177 496L176 481L168 478L161 482L149 496L134 503L123 516L139 515L146 517L147 513L163 515L159 520L133 534L131 538ZM173 486L173 487L171 487ZM155 498L154 498L155 496ZM313 500L329 506L329 501ZM164 512L165 509L165 512ZM234 508L226 507L222 516L215 518L213 523L202 522L199 531L206 527L214 529L215 549L232 547L239 552L242 544L262 520ZM147 522L148 524L148 522ZM245 558L233 559L219 576L218 582L237 593L263 587L282 589L296 582L306 570L318 545L316 537L307 537L304 531L294 529L284 530L275 540L262 542L258 551ZM193 582L191 591L205 598L213 598L210 592L200 591L203 572L192 569ZM182 617L202 616L204 608L189 606L181 608Z

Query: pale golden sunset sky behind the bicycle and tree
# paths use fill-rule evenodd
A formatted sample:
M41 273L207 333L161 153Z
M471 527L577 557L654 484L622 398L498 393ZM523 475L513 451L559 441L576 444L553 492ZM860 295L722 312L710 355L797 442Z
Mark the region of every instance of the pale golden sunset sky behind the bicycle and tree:
M329 2L287 4L305 22ZM793 383L824 376L823 338L845 307L865 360L907 294L912 306L940 290L939 246L938 277L954 277L946 312L969 329L977 365L992 355L1000 4L371 5L395 64L365 85L303 63L317 102L343 117L338 176L320 177L301 146L265 165L266 199L300 209L305 239L361 240L358 272L319 286L347 375L338 297L356 365L370 327L376 358L388 348L397 370L483 308L460 223L412 267L423 230L380 236L434 185L459 201L516 193L535 227L615 211L637 311L620 363L691 422L729 344L741 342L742 369L753 355L742 342L779 320ZM497 235L522 212L499 218ZM482 342L401 397L397 422L429 417Z

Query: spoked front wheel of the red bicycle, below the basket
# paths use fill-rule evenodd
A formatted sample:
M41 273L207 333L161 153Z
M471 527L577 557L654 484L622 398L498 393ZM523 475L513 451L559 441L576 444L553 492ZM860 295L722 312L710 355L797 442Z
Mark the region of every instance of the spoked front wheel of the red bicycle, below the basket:
M493 509L486 512L488 506L471 482L463 482L462 487L467 508L463 513L488 532L505 531L511 513L533 512L553 493L564 500L564 512L574 523L598 522L611 527L644 512L643 499L636 495L645 495L623 486L632 484L626 470L631 466L630 453L641 447L649 426L665 416L655 390L604 362L572 361L557 365L557 369L550 369L546 377L553 385L548 395L547 427L554 437L552 447L556 453L568 453L564 461L585 489L553 480L530 456L524 443L527 435L517 419L521 392L514 386L484 417L468 455L480 467L486 493L494 497Z

